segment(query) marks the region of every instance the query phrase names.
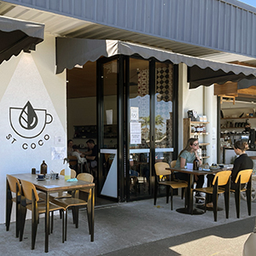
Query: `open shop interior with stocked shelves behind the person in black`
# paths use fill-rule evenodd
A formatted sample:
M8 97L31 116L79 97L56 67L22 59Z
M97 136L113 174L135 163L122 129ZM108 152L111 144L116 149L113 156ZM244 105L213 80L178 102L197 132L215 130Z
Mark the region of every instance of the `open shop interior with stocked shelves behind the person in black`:
M237 89L237 83L227 84L229 91L220 92L219 84L215 84L214 90L220 97L220 162L232 164L236 159L233 145L237 140L246 140L247 154L256 156L256 86Z

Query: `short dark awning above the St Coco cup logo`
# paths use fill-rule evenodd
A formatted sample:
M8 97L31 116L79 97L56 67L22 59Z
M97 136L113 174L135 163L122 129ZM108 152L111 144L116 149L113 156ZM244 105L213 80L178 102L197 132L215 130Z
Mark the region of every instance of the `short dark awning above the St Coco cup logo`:
M0 16L0 64L44 40L44 24Z

